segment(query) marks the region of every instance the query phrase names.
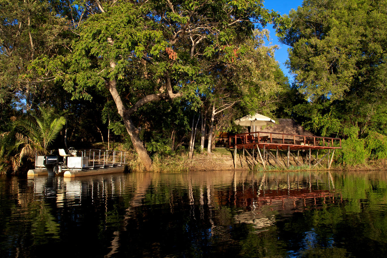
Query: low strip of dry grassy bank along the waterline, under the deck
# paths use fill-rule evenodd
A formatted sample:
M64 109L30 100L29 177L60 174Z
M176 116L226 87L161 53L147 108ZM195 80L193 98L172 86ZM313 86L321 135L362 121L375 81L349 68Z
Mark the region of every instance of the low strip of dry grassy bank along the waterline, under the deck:
M103 148L102 143L91 145L94 148ZM122 144L115 145L116 150L122 150ZM136 158L134 152L130 162L128 162L128 168L130 171L141 172L145 171L144 166L142 166L139 159ZM319 154L321 158L325 153ZM251 166L251 159L245 156L245 159L242 158L241 150L237 152L237 167L236 170L251 170L254 171L279 171L279 172L290 172L290 171L373 171L373 170L387 170L387 159L378 159L378 160L365 160L363 164L356 165L344 165L339 164L338 156L335 154L332 166L330 169L327 168L327 159L325 158L319 166L311 167L307 163L299 166L295 161L294 157L291 157L289 160L289 167L286 168L286 151L280 151L280 161L282 165L275 164L275 161L271 158L266 162L266 169L264 170L262 162L258 162L253 168ZM301 153L300 161L307 159L304 154ZM314 154L315 155L315 154ZM313 157L315 161L315 156ZM207 151L204 149L202 153L194 152L192 159L188 158L188 153L185 151L176 152L174 155L159 155L154 154L152 156L153 161L153 170L152 172L164 173L164 172L176 172L176 173L185 173L185 172L195 172L195 171L212 171L212 170L234 170L234 161L233 161L233 149L229 148L215 148L212 150L211 155L207 154Z

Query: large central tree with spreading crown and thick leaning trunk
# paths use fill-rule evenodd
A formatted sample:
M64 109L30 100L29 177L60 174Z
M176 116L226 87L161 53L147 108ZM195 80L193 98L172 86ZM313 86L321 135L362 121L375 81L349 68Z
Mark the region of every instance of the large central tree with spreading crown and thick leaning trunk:
M84 9L89 17L76 31L66 88L74 97L88 98L95 87L110 92L147 170L152 161L132 119L139 108L176 97L198 101L217 83L217 65L232 61L252 36L254 23L276 15L252 0L95 0Z

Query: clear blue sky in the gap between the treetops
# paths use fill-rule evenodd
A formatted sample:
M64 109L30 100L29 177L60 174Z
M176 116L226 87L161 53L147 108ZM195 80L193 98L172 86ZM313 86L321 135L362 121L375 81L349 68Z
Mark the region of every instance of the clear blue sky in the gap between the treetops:
M297 9L298 6L302 5L302 0L266 0L264 2L265 8L279 12L279 14L289 14L291 9ZM275 58L279 62L281 69L283 70L285 76L289 77L289 80L292 80L292 75L288 73L288 69L285 67L285 62L288 59L288 46L279 43L276 36L276 31L269 24L266 29L270 31L270 40L272 44L278 45L279 49L275 53Z

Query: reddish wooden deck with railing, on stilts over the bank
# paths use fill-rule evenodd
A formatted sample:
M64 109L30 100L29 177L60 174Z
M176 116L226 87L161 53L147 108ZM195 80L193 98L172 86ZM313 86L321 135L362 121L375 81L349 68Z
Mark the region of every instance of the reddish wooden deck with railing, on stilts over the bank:
M315 164L317 166L320 162L328 155L328 167L332 164L334 150L341 149L340 138L330 137L319 137L310 135L296 135L289 133L271 133L271 132L251 132L251 133L240 133L228 138L228 144L230 148L234 148L234 167L236 169L236 150L243 149L243 159L245 157L245 151L252 157L252 165L254 162L254 150L257 150L260 160L265 169L265 161L268 157L275 160L276 164L278 161L278 150L288 150L287 166L289 167L289 157L292 155L297 163L300 150L309 150L309 167L312 164L311 150L317 150L317 158ZM252 155L248 153L248 149L252 149ZM262 149L262 154L260 149ZM276 157L268 150L276 150ZM297 150L297 157L290 153L290 150ZM328 152L318 160L318 150L328 150ZM333 150L332 156L330 157L330 150ZM258 157L257 157L258 158ZM329 160L330 159L330 160Z

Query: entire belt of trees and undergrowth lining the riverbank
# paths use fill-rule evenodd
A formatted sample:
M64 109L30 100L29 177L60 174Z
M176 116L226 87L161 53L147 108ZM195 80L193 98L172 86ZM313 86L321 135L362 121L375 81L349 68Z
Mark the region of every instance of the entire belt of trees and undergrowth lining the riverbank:
M385 6L305 0L281 15L261 0L0 0L0 174L89 142L122 145L136 171L234 168L215 139L251 132L234 121L255 113L341 138L331 169L385 169ZM288 47L289 77L267 26ZM305 155L282 163L267 169L309 169Z

